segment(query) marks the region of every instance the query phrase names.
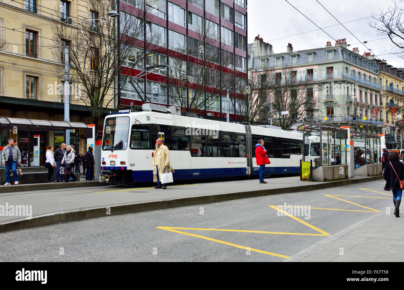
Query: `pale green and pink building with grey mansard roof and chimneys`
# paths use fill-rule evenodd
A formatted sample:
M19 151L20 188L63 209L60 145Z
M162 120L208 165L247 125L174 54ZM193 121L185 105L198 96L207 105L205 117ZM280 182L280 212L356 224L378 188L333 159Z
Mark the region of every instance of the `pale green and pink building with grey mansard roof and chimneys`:
M279 74L285 67L296 82L307 86L306 97L315 101L315 106L307 107L304 116L297 118L381 133L382 88L375 58L361 55L358 48L350 50L345 39L306 50L294 50L288 44L283 53L274 53L272 45L259 36L248 45L250 78L260 78L266 70Z

